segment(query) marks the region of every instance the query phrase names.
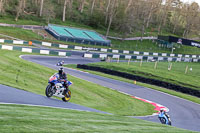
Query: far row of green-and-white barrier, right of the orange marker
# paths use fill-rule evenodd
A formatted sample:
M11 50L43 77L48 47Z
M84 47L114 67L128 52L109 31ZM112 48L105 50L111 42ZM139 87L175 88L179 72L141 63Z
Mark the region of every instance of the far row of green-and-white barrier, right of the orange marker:
M48 42L40 42L36 40L32 40L33 43L41 44L46 46L45 44ZM56 43L49 43L49 47L58 47L58 48L70 48L75 49L76 46L74 45L63 45L63 44L56 44ZM79 50L84 50L87 47L77 46L80 47ZM115 50L115 49L105 49L105 48L88 48L91 51L100 51L100 52L108 52L108 53L116 53L116 54L134 54L134 55L148 55L148 56L163 56L163 57L184 57L184 58L196 58L200 59L200 55L185 55L185 54L169 54L169 53L150 53L150 52L140 52L140 51L128 51L128 50Z

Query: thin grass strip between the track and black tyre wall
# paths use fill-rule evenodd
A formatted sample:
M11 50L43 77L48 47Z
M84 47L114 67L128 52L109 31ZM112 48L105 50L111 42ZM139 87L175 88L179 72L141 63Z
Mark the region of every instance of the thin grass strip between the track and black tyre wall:
M65 66L69 67L69 68L78 69L78 68L76 68L76 65L73 65L73 64L65 65ZM82 70L82 69L79 69L79 70ZM90 70L84 70L84 71L92 73L92 74L100 75L100 76L103 76L103 77L107 77L107 78L111 78L111 79L115 79L115 80L120 80L120 81L123 81L123 82L133 84L133 80L125 79L125 78L122 78L122 77L104 74L104 73L96 72L96 71L90 71ZM200 99L195 97L195 96L183 94L183 93L180 93L180 92L176 92L176 91L169 90L169 89L166 89L166 88L158 87L158 86L155 86L155 85L141 83L141 82L138 82L138 81L137 81L137 85L152 88L152 89L155 89L155 90L158 90L158 91L162 91L162 92L168 93L170 95L174 95L174 96L177 96L177 97L180 97L180 98L183 98L183 99L186 99L186 100L200 104Z

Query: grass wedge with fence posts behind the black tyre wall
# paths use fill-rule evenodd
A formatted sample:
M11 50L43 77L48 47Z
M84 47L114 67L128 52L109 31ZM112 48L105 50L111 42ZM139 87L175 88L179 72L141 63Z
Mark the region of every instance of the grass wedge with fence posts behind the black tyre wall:
M140 67L140 62L108 63L100 62L89 64L91 66L99 66L111 70L117 70L134 74L146 78L157 79L184 87L190 87L200 90L200 70L199 63L173 62L171 71L168 71L168 62L158 62L157 69L154 69L155 62L143 62ZM185 74L186 66L192 68Z

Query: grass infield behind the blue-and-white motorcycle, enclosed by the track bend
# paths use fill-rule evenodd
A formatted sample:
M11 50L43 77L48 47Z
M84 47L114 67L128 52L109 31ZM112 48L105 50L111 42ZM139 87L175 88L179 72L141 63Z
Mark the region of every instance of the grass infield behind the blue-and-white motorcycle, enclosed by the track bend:
M19 58L17 51L0 50L0 84L45 95L48 78L56 71ZM118 115L148 115L155 111L148 103L136 100L115 90L68 75L70 102Z

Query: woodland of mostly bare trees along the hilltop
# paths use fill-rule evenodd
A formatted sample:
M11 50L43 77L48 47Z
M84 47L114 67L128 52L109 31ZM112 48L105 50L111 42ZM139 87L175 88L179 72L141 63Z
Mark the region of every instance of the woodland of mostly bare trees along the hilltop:
M1 16L12 15L70 20L110 29L124 36L146 31L172 33L187 38L200 36L200 7L198 3L180 0L0 0Z

